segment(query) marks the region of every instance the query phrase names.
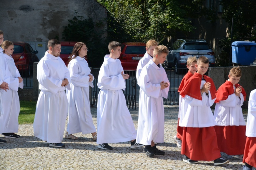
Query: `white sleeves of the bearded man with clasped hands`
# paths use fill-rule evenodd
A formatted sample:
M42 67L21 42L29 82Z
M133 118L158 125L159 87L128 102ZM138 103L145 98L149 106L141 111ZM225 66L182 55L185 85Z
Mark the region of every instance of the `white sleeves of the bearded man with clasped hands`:
M46 89L51 91L53 94L56 94L61 87L62 80L59 79L54 79L53 77L49 76L49 68L47 65L42 61L41 63L39 62L37 65L37 79L40 84L42 84ZM66 76L66 74L69 74L68 68L67 71L65 70L65 78L69 77L69 90L70 90L70 76Z

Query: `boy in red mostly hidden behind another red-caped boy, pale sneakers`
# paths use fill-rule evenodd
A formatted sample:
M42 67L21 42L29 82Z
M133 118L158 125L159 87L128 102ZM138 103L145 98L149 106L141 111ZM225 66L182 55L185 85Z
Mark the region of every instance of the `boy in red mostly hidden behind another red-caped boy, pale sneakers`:
M187 68L188 72L187 74L184 75L180 87L178 89L178 92L181 92L182 88L184 87L184 84L187 82L187 80L192 77L192 75L197 71L196 65L197 64L197 58L196 57L189 57L187 59ZM181 141L182 141L182 131L183 128L179 126L179 121L180 121L180 113L181 113L181 102L182 102L182 97L180 96L179 98L179 115L178 115L178 124L177 124L177 134L173 136L175 142L177 143L177 147L181 148ZM186 110L186 109L185 109Z

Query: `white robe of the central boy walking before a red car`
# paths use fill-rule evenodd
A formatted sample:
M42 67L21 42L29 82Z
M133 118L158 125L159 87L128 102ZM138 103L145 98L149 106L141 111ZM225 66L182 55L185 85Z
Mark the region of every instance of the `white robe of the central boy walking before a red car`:
M118 143L136 139L136 130L126 106L122 89L125 80L120 60L105 55L99 71L101 89L97 103L97 144Z

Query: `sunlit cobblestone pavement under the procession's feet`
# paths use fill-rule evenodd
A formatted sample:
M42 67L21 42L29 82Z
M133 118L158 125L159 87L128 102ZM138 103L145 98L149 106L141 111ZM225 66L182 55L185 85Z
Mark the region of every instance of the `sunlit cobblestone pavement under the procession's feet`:
M95 125L96 107L91 108ZM130 148L130 142L113 143L113 150L97 148L91 134L75 134L79 139L65 139L65 148L52 148L33 134L32 124L19 126L19 138L2 138L6 143L0 144L0 169L242 169L243 163L238 155L222 153L230 163L214 166L213 162L200 161L190 165L182 161L181 150L173 140L177 126L177 106L165 106L165 142L157 148L165 155L147 157L142 148ZM138 109L130 109L137 129ZM97 126L97 125L96 125ZM66 132L66 131L65 131Z

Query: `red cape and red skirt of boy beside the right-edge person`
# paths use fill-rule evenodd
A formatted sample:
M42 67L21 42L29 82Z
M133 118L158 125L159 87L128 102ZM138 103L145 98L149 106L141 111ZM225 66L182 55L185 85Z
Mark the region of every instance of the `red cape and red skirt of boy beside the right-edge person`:
M235 84L237 88L239 84ZM215 103L227 100L229 95L234 93L233 84L230 81L226 81L222 84L216 93ZM246 98L246 93L242 87L242 95L244 100ZM217 135L218 147L221 152L228 155L242 155L244 152L244 146L246 141L245 131L246 126L215 126L215 131Z

